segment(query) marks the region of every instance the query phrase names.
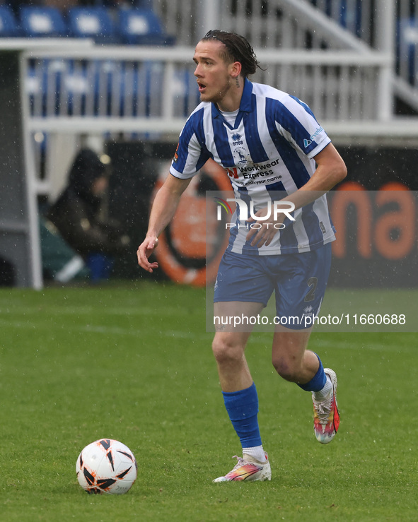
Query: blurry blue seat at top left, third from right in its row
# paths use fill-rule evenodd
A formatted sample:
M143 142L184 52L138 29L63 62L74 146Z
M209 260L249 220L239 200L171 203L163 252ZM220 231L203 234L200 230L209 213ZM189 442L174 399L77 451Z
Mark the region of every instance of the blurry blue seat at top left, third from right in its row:
M20 18L23 35L27 37L66 36L64 18L57 8L23 6Z

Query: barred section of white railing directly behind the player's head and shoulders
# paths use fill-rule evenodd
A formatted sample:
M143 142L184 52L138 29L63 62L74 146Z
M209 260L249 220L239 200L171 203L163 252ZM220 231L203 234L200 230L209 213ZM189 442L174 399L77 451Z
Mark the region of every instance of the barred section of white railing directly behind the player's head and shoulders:
M28 52L26 89L34 127L46 128L57 118L108 118L108 130L178 131L179 121L199 102L193 71L193 49L107 47L62 52ZM390 56L368 52L257 52L265 71L254 81L300 97L320 119L384 119L390 96L379 93ZM156 122L159 122L156 125Z

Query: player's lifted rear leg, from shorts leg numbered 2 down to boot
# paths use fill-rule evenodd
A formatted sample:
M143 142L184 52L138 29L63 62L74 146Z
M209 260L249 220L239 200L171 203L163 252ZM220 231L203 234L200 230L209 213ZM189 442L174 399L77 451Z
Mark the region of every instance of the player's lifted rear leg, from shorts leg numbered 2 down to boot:
M332 441L339 427L337 376L323 368L320 357L307 349L310 324L323 301L330 271L331 247L289 256L286 267L292 277L278 280L277 316L289 326L277 326L274 333L272 362L278 374L312 392L315 437L322 444Z

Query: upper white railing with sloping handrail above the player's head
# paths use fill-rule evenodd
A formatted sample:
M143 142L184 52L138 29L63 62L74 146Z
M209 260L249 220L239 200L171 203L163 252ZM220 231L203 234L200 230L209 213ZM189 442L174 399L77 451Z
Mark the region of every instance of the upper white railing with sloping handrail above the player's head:
M418 110L418 7L411 0L154 0L179 45L235 30L262 49L375 49L395 57L396 93Z

